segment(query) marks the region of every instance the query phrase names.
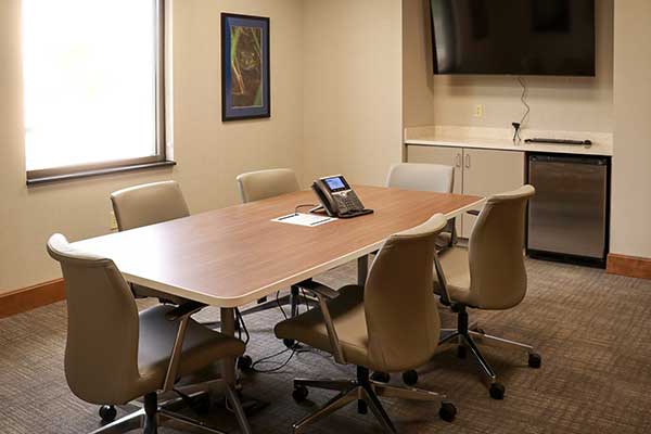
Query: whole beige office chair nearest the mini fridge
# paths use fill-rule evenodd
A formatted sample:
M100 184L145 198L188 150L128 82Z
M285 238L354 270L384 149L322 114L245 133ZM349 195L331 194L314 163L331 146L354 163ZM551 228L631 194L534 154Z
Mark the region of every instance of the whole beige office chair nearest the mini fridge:
M534 193L532 186L524 186L490 196L480 213L469 247L450 248L435 260L435 291L442 295L442 302L450 305L458 315L457 329L444 330L441 344L458 340L461 358L470 348L490 381L489 393L495 399L503 398L505 386L497 382L474 339L525 349L532 368L539 368L541 359L529 345L495 337L476 327L469 327L467 308L506 310L518 306L524 298L527 286L523 252L525 212Z

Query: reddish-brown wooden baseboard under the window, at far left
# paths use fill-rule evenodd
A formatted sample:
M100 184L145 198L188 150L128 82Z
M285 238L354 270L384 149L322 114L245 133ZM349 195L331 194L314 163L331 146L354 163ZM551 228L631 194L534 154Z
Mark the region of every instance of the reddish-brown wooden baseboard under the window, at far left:
M11 317L62 299L65 299L63 279L0 294L0 318Z

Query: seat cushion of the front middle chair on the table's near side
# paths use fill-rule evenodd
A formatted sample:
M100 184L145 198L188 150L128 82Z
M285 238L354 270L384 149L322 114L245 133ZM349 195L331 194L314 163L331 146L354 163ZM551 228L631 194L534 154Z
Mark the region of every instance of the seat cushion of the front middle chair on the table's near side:
M357 366L370 367L368 360L368 331L363 309L363 288L348 285L340 290L340 295L328 301L328 308L346 361ZM330 354L328 330L320 308L314 308L295 318L276 326L279 339L291 339L322 349Z

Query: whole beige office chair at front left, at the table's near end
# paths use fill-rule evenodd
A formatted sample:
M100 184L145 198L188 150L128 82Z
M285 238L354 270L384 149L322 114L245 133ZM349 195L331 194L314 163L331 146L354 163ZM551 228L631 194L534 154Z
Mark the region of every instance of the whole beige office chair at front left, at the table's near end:
M157 392L170 392L180 376L242 355L244 343L192 320L190 316L203 307L197 303L176 308L157 305L138 314L129 285L115 264L75 250L61 234L50 238L48 252L61 264L65 279L65 375L73 393L87 403L105 405L100 411L105 422L116 416L113 406L144 396L143 410L94 433L144 427L145 434L154 434L158 422L169 419L218 433L159 405ZM225 386L242 432L250 433L238 396Z

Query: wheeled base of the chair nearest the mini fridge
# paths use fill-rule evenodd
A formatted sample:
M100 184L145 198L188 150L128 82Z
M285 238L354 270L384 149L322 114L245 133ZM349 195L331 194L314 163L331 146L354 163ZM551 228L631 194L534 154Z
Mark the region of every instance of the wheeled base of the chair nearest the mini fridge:
M489 343L526 350L528 353L529 367L540 368L541 358L535 352L533 346L486 334L486 332L480 329L476 324L469 326L468 311L465 310L465 306L457 306L457 308L459 309L457 329L442 329L441 334L443 337L438 342L438 345L449 344L454 341L457 341L459 345L458 356L460 358L465 357L467 348L470 349L474 359L480 363L482 372L486 375L486 378L489 381L489 394L492 398L503 399L505 386L497 381L497 374L495 373L488 361L486 361L486 359L484 358L484 355L480 350L475 340L487 341Z

